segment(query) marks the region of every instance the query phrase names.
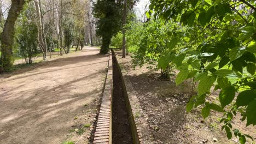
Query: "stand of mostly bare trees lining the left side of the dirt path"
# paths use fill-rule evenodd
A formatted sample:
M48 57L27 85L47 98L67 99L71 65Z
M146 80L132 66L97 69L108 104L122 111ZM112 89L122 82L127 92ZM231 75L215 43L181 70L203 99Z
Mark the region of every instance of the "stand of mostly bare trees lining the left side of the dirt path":
M54 46L60 49L60 55L68 53L71 45L76 46L79 50L84 45L84 35L88 31L86 26L90 25L90 39L93 37L92 16L88 15L90 9L90 1L82 0L7 0L11 2L7 19L5 20L2 12L2 0L0 0L0 32L1 34L1 60L0 71L9 71L14 62L14 54L24 56L18 52L15 47L24 47L25 44L30 47L27 49L38 50L46 59L48 51L54 49ZM4 1L6 4L7 2ZM24 5L26 5L24 7ZM27 19L26 25L22 22L16 22L20 13L24 9L27 14L23 18ZM28 14L29 13L29 14ZM6 13L5 13L6 14ZM16 24L15 24L16 23ZM24 29L17 29L24 25ZM31 27L27 27L31 26ZM32 30L36 27L36 31ZM2 30L2 31L1 31ZM21 31L22 30L22 31ZM33 31L31 33L30 31ZM89 33L88 32L88 33ZM30 34L30 35L27 35ZM33 34L37 34L34 36ZM30 37L36 39L34 45L28 44ZM89 35L89 34L87 34ZM27 37L25 37L27 36ZM91 40L92 41L92 40ZM14 47L15 45L15 47ZM34 46L36 45L36 49ZM82 48L81 48L82 49ZM18 53L16 53L18 52ZM28 62L32 62L28 60Z

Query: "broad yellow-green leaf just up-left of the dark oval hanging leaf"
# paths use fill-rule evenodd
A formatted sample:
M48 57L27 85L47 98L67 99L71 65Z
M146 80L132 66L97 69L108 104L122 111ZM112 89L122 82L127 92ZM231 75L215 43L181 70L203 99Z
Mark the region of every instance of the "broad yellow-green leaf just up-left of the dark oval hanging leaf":
M197 87L198 95L202 95L206 92L209 92L215 80L216 80L216 77L214 76L203 77L203 79L199 81L199 84Z

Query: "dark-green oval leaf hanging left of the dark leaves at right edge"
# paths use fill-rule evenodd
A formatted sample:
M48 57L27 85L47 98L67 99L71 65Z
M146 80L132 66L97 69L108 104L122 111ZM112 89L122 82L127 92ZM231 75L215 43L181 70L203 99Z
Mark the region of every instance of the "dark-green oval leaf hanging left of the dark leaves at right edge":
M228 86L222 89L219 93L219 101L224 108L226 105L230 104L235 98L236 89L233 86Z

